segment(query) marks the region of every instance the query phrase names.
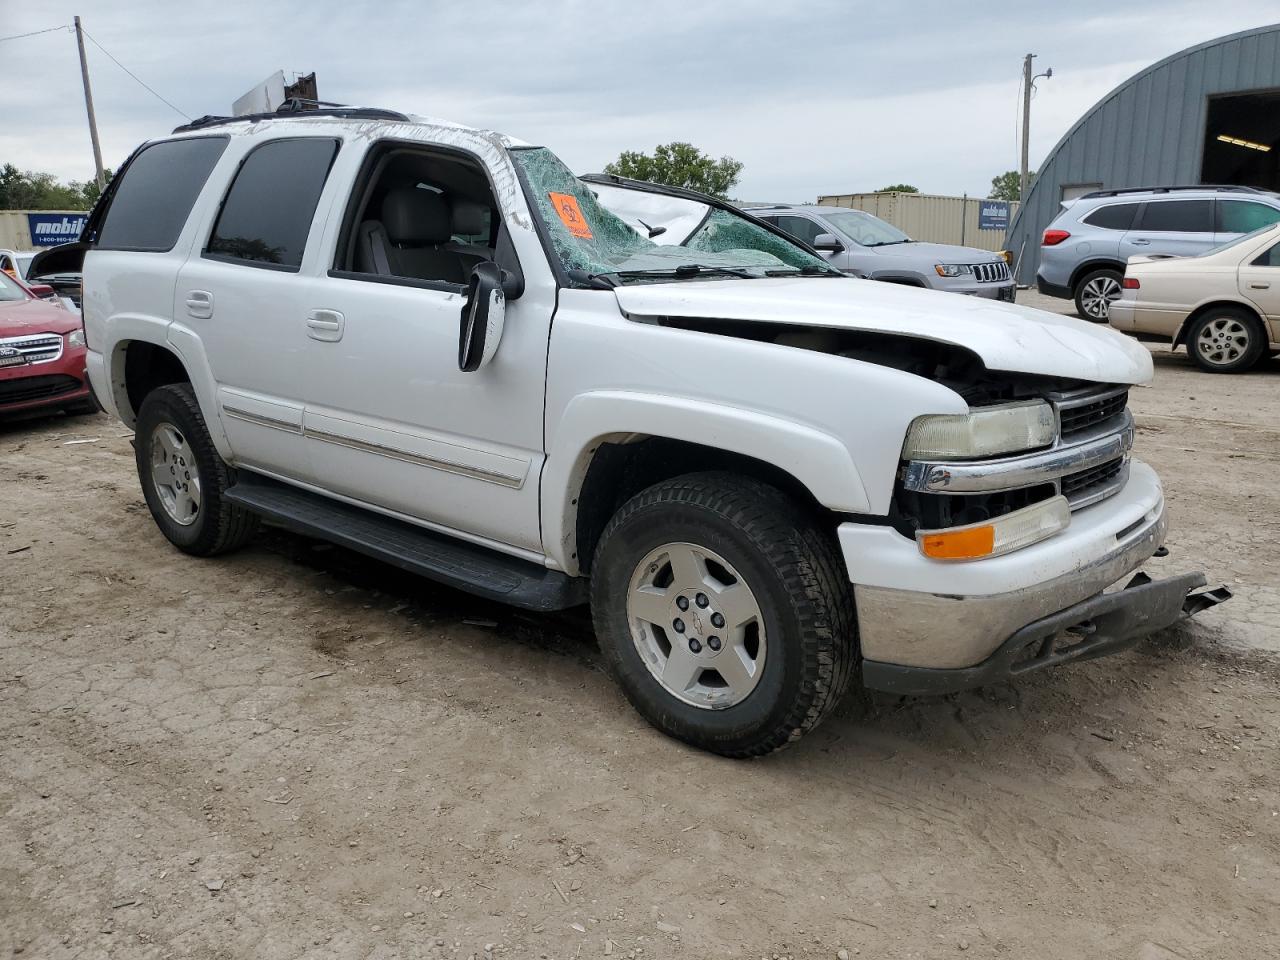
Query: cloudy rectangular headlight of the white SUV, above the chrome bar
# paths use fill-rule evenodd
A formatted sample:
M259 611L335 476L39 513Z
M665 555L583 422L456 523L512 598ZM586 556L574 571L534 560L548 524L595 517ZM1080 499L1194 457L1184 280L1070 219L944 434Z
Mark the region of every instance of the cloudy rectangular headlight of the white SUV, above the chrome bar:
M972 413L932 413L911 422L902 458L995 457L1048 447L1056 431L1053 408L1044 401L1001 403Z

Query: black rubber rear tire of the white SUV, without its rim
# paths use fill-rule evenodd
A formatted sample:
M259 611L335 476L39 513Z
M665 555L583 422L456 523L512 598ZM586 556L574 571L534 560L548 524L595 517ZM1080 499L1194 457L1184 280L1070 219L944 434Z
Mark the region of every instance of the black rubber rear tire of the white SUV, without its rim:
M172 426L184 442L191 457L183 457L178 470L193 475L200 495L198 508L191 520L182 524L170 515L154 477L152 453L157 429ZM234 483L234 471L223 462L209 439L205 417L191 389L191 384L178 383L157 387L146 396L138 410L138 422L133 438L134 461L142 495L160 532L183 553L212 557L243 545L257 531L259 520L253 513L228 502L227 488ZM175 480L183 477L175 475ZM188 486L192 480L184 480Z

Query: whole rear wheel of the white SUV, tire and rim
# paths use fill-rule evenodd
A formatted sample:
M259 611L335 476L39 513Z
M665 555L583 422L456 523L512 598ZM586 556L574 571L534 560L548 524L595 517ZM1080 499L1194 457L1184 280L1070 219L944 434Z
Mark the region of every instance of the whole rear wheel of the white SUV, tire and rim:
M224 498L232 468L214 449L189 384L159 387L138 410L133 438L142 495L174 547L197 557L236 549L257 517Z

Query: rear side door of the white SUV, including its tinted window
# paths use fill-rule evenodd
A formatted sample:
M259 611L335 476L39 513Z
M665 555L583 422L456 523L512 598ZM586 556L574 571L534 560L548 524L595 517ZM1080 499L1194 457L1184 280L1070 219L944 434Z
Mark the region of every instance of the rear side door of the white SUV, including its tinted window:
M340 141L238 138L238 164L173 291L175 328L193 334L216 383L233 458L284 479L310 477L302 439L308 237ZM180 335L179 335L180 346Z

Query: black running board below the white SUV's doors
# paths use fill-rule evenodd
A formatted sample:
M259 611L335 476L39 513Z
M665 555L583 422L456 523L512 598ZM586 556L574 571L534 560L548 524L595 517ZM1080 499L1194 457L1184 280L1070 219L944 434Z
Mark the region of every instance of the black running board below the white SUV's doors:
M241 471L227 499L298 534L526 611L586 603L586 580Z

